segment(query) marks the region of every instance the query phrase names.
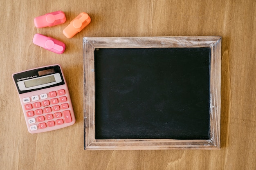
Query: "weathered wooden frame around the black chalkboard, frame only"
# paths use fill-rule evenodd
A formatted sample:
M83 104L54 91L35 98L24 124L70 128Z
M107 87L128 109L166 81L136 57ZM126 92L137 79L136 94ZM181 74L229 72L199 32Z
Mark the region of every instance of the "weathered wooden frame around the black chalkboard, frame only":
M95 139L95 49L209 48L209 139ZM84 62L84 148L86 150L220 149L221 37L86 37Z

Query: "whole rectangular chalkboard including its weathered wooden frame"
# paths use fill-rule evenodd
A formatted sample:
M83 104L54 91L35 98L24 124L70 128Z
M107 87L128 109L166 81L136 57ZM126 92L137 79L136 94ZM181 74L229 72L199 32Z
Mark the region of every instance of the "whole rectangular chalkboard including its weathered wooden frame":
M221 38L214 38L220 44ZM158 39L166 38L158 38L149 48L145 44L149 38L134 47L121 44L120 39L131 41L84 40L85 149L161 149L166 140L168 149L201 148L200 142L202 147L219 148L219 139L213 139L219 137L220 114L211 92L216 91L212 77L220 74L213 66L218 54L213 52L214 43L185 43L181 48L173 41L168 46L159 44ZM150 145L145 146L145 141ZM199 143L193 147L193 142Z

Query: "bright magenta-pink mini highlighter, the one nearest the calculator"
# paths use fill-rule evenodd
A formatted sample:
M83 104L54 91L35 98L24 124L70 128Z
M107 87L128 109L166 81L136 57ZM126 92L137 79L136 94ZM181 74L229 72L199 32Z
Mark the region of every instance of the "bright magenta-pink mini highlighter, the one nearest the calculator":
M66 48L63 42L41 34L34 35L33 43L57 54L63 53Z

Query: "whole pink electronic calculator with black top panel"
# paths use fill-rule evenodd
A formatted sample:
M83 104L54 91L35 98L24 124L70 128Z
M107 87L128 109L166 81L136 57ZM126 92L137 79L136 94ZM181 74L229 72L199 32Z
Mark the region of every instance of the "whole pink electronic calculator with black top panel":
M30 133L47 132L76 121L61 66L38 67L12 75Z

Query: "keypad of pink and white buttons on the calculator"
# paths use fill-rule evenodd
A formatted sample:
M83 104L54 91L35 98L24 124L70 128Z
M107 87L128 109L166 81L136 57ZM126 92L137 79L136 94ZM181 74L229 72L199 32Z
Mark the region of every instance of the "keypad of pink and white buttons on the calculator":
M72 122L64 89L24 97L22 102L31 131Z

